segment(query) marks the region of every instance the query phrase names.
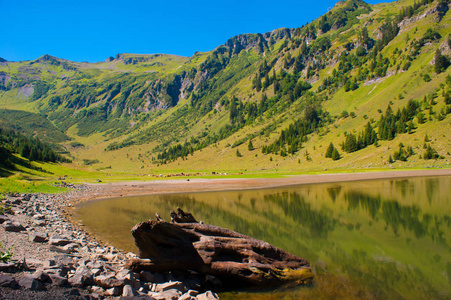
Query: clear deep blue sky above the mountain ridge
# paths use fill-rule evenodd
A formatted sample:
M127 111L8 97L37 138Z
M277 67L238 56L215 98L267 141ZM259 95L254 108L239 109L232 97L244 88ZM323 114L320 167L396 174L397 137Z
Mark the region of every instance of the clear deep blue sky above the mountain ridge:
M117 53L191 56L240 33L300 27L336 2L0 0L0 57L19 61L50 54L97 62Z

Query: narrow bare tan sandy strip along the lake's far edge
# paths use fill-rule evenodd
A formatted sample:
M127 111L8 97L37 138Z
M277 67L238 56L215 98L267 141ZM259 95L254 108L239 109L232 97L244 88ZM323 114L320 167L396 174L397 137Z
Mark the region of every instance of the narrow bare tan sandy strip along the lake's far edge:
M203 179L179 177L170 180L133 181L105 184L88 184L91 193L72 199L73 204L85 201L184 192L207 192L272 188L302 184L317 184L374 179L396 179L419 176L451 176L451 169L393 170L384 172L355 172L317 175L295 175L283 178L218 178Z

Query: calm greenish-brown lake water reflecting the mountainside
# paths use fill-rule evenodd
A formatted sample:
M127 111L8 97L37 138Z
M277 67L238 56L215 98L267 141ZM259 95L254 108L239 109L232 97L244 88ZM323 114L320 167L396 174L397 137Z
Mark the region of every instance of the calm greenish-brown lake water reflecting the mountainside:
M103 241L136 252L130 229L181 207L207 224L307 259L314 287L224 299L451 299L451 176L128 197L81 206Z

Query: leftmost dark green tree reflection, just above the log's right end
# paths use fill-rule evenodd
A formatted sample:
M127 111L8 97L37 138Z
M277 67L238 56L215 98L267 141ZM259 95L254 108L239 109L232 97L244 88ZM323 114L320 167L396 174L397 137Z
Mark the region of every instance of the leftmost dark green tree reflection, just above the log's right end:
M327 237L335 227L336 221L331 218L331 212L324 209L314 210L310 203L296 192L265 195L264 200L280 206L285 216L309 228L310 233L314 236Z

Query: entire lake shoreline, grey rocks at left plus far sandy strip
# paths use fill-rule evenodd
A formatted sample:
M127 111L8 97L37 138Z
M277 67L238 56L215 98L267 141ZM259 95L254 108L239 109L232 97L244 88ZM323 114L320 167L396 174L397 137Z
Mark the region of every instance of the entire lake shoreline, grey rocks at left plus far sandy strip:
M190 299L196 299L197 295L206 291L211 295L209 299L218 299L208 288L193 289L204 286L202 282L206 282L205 279L191 285L189 275L186 274L174 277L170 273L135 274L125 270L125 260L135 254L109 246L80 226L74 218L76 206L89 201L150 194L252 190L419 176L451 176L451 169L81 184L74 185L74 189L64 194L11 195L4 201L12 209L10 213L2 215L6 218L1 222L0 233L3 248L14 246L17 256L13 258L14 263L2 265L5 276L0 283L5 289L0 289L0 298L26 299L37 295L42 296L42 299L48 299L49 295L64 298L71 293L79 297L76 296L76 299L85 296L97 299L121 295L157 296L164 293L163 290L171 281L176 281L180 288L173 292L178 296L186 294L188 297L189 294ZM6 225L13 229L16 227L17 231L7 230ZM5 278L9 280L7 283ZM41 299L40 296L37 299Z

